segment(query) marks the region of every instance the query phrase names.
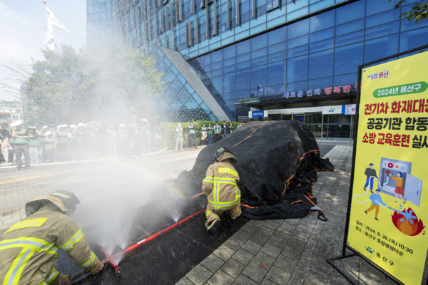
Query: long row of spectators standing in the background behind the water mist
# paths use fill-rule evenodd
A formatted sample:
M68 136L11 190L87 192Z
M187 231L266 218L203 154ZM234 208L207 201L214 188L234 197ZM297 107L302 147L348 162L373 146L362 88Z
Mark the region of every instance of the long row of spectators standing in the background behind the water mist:
M237 128L243 124L240 123ZM197 132L200 132L200 146L205 146L235 130L232 123L227 125L224 121L222 125L218 122L215 125L203 124L200 130L190 122L186 129L183 130L180 123L175 128L175 150L183 150L183 138L188 139L188 147L198 147ZM161 151L162 133L160 123L152 127L146 119L136 124L108 126L95 121L76 125L38 123L28 128L23 128L22 122L16 121L10 125L0 125L0 164L12 165L15 158L17 168L21 170L39 162L138 157Z

